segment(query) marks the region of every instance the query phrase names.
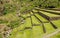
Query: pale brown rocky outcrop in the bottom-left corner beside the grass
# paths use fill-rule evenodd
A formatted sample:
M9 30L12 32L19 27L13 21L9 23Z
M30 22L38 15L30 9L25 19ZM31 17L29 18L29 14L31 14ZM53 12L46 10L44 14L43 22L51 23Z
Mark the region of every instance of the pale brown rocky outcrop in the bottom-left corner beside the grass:
M7 38L10 35L11 28L7 27L4 24L0 24L0 34L2 35L3 38Z

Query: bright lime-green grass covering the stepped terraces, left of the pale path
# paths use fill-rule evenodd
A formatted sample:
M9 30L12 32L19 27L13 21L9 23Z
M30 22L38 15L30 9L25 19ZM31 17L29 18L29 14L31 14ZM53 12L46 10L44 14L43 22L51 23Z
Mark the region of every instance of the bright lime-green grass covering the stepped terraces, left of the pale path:
M43 11L40 12L50 17L59 16L59 15L54 15ZM31 14L33 13L31 12ZM26 18L27 16L30 16L30 14L23 15L24 18ZM39 22L39 20L35 16L37 16L42 22L48 22L48 23L43 23L46 33L44 33L41 22ZM26 18L24 24L21 24L19 27L14 28L9 38L42 38L44 35L56 31L56 29L52 27L51 23L49 23L47 19L43 18L37 13L35 14L35 16L33 15L31 17ZM32 23L31 23L31 18L32 18ZM55 20L52 22L58 27L58 29L60 29L60 23L59 23L60 20ZM32 26L32 24L36 24L36 25Z

